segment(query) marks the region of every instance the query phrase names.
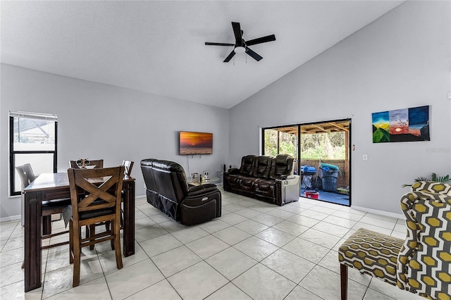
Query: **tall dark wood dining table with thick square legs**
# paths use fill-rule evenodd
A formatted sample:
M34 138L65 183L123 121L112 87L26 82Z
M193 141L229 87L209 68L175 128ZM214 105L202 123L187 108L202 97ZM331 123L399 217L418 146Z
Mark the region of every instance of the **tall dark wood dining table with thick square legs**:
M135 254L135 178L123 178L123 255ZM25 292L42 285L42 201L70 198L68 173L42 173L25 189ZM69 259L69 258L68 258Z

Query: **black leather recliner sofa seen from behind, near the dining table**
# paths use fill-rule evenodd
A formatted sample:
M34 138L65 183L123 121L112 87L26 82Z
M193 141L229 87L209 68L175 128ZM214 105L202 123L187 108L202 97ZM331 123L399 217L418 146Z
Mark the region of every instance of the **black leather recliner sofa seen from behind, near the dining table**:
M214 184L190 186L185 170L173 161L141 161L147 202L184 225L221 217L221 192Z

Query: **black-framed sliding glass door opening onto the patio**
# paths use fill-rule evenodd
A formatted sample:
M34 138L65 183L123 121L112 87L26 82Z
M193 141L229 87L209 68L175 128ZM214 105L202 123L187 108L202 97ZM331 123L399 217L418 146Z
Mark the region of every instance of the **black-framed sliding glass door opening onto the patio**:
M301 196L350 206L350 129L350 119L264 128L263 154L296 158Z

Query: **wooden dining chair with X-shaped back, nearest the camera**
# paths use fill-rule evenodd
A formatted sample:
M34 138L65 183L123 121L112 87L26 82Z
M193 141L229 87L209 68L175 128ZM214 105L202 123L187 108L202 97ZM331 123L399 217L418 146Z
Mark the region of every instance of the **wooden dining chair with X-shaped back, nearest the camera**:
M68 170L72 218L69 221L70 263L73 263L73 287L80 284L82 247L113 240L116 266L123 267L121 256L121 189L123 165L116 168ZM82 197L81 197L82 196ZM111 230L81 237L83 226L111 222Z

